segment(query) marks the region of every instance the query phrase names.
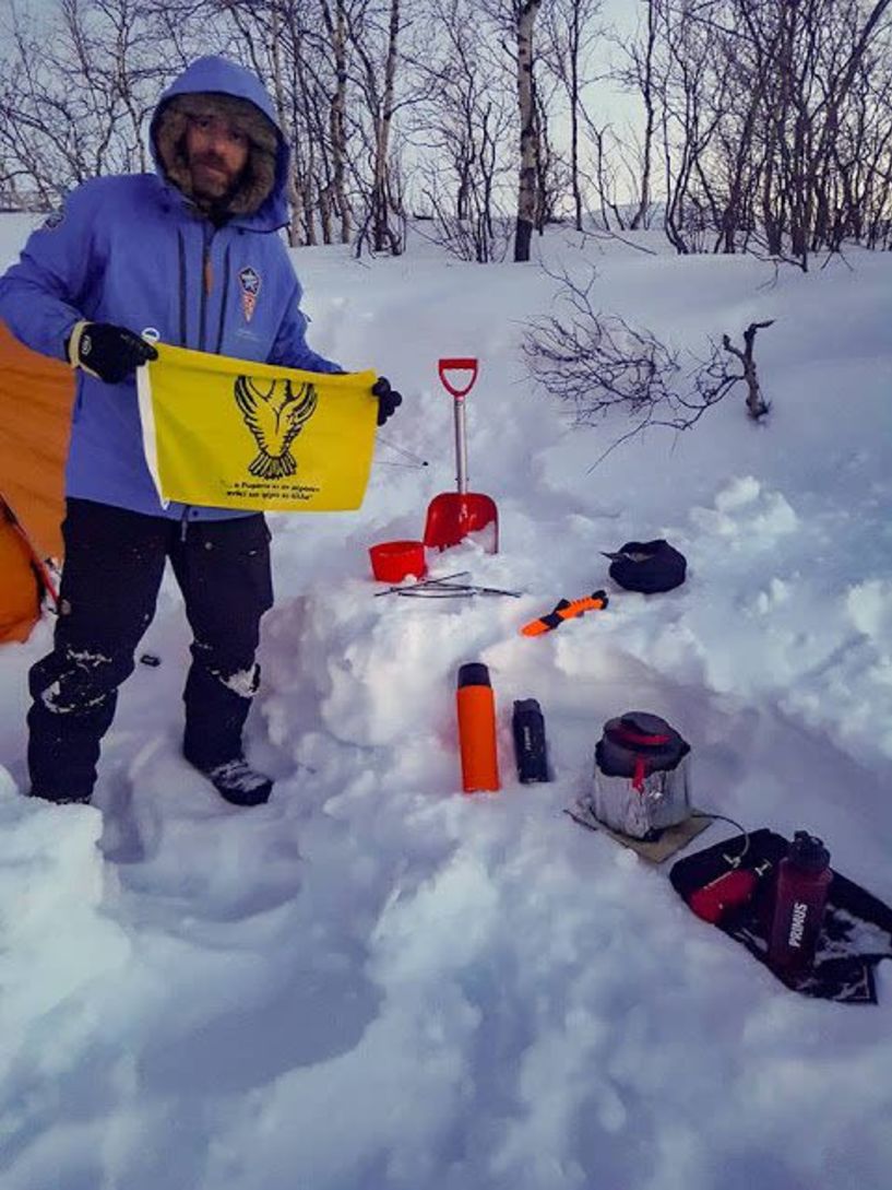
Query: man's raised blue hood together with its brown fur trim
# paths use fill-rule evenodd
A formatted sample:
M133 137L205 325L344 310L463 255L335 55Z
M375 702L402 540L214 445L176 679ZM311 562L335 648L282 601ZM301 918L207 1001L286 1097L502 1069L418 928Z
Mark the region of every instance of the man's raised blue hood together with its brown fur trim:
M190 198L184 154L186 126L199 107L212 105L235 118L251 142L244 184L228 203L238 223L272 231L288 223L285 186L289 150L259 79L227 58L197 58L162 95L150 129L155 168Z

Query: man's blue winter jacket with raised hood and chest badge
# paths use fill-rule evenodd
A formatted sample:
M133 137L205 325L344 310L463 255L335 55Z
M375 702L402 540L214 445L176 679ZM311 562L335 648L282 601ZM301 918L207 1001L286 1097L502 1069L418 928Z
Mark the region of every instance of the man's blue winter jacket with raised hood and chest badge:
M194 62L164 93L215 92L247 100L276 129L275 183L259 208L219 227L164 176L100 177L77 187L33 232L0 277L0 318L27 346L65 358L82 319L163 343L337 372L307 346L301 288L278 234L287 223L288 145L259 80L225 58ZM155 126L155 121L153 121ZM26 400L23 394L23 400ZM231 509L162 508L143 455L136 382L106 384L77 371L65 472L69 496L170 518L226 518Z

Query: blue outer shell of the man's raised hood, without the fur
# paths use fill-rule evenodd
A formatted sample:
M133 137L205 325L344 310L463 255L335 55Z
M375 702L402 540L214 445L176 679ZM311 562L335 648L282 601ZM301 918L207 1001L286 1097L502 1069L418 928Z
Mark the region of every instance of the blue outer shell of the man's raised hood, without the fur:
M176 170L171 169L167 146L159 145L161 139L170 136L170 117L177 108L188 108L189 96L207 94L219 95L225 100L238 100L250 104L258 113L258 124L275 137L275 165L269 193L259 206L249 212L233 209L233 217L258 231L274 231L288 223L287 182L290 151L278 126L272 100L260 80L251 70L246 70L228 58L208 56L191 63L161 96L152 115L149 139L155 161L155 168L165 182L171 182L184 190ZM165 120L165 111L168 119ZM258 150L259 151L259 150ZM269 158L268 158L269 159ZM188 193L188 192L186 192Z

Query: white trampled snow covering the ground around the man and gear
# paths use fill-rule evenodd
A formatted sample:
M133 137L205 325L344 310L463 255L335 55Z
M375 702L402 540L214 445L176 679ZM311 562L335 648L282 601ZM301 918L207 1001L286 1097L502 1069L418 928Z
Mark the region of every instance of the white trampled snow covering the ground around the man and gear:
M25 230L0 224L0 264ZM406 401L360 512L272 519L249 724L269 806L226 806L180 759L172 581L143 645L162 664L121 693L94 807L18 796L50 625L0 651L4 1190L892 1185L890 964L877 1007L797 996L689 912L668 864L561 813L604 720L652 710L692 745L699 807L817 833L892 902L892 259L775 277L545 249L551 271L595 263L604 311L695 353L774 319L756 339L771 416L749 422L741 388L591 470L623 425L571 430L523 375L544 269L295 253L313 346ZM376 599L368 546L420 537L454 482L451 355L482 362L471 486L498 505L501 552L467 543L431 569L523 594ZM685 585L615 588L599 551L659 536ZM608 610L519 634L598 587ZM492 675L496 795L460 793L466 660ZM515 779L522 697L545 712L547 785Z

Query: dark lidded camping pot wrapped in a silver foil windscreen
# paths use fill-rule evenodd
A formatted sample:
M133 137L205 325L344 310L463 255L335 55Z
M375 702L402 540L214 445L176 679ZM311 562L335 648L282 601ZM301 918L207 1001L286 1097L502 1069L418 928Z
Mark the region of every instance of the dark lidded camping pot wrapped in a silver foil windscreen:
M604 725L595 749L590 809L633 839L655 839L691 814L691 747L665 719L627 710Z

